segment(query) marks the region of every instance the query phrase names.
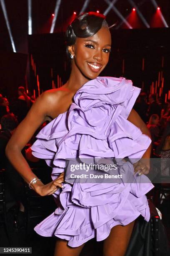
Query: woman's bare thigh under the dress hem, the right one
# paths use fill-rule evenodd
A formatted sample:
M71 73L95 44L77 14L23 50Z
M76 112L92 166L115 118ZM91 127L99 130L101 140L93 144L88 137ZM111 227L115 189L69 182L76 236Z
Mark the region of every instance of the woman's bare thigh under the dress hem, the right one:
M135 220L128 225L117 225L104 240L103 256L125 256Z

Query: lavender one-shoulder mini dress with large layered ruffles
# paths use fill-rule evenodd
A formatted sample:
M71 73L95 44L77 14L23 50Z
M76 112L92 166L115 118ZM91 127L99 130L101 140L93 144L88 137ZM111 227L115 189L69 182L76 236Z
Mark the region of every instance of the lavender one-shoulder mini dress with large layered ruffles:
M70 159L117 159L119 172L133 174L151 140L127 118L140 88L123 77L97 77L75 94L69 110L46 125L32 145L32 154L52 166L52 179ZM129 161L121 164L121 159ZM139 215L150 219L145 194L154 186L145 175L133 183L63 183L53 196L59 197L55 212L35 226L41 236L57 236L77 247L96 238L102 241L115 225L127 225Z

